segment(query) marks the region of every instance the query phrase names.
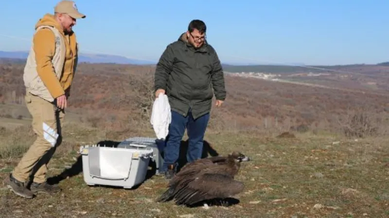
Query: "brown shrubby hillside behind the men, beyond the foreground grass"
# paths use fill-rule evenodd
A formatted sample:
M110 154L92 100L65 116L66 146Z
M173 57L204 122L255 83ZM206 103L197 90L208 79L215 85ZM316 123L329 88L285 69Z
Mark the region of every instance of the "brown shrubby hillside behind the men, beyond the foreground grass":
M10 112L4 109L8 104L23 104L23 67L22 63L0 64L0 117L29 117L21 110ZM276 134L299 126L316 132L345 132L345 128L350 127L345 134L354 134L353 128L360 129L360 125L352 124L349 110L363 106L362 112L367 113L373 127L373 131L365 133L385 136L389 124L386 119L389 113L386 88L389 67L358 67L361 69L353 70L359 74L345 78L334 74L329 81L325 77L315 77L315 81L330 82L334 88L347 86L359 93L226 75L227 99L222 108L212 111L210 127L231 132L276 131ZM80 63L77 69L68 112L83 114L80 122L117 131L128 128L128 123L147 127L153 103L154 66ZM297 78L301 81L312 79ZM382 85L377 85L378 90L362 89L366 82ZM366 93L360 93L362 91ZM365 136L365 133L360 135Z

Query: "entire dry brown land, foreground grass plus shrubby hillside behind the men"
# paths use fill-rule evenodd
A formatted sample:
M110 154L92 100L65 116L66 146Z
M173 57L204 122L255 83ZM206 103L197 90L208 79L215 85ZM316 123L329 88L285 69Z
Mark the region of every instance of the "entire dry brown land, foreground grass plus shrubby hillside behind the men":
M23 104L22 68L0 66L1 179L35 140ZM49 181L63 191L28 200L2 186L5 217L389 216L389 100L374 89L361 94L226 76L228 98L212 109L206 140L220 155L239 150L251 157L236 178L245 190L229 207L186 208L155 202L167 184L157 175L130 190L85 184L81 145L154 137L153 66L83 63L78 69L64 141L49 166ZM386 93L382 87L379 92Z

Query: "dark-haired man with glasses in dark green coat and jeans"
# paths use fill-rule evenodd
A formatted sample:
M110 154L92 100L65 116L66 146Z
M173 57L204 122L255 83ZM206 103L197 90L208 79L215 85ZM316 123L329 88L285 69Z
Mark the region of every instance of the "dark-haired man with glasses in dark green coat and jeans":
M166 179L176 172L185 129L189 138L188 162L201 158L213 92L216 107L226 98L223 68L216 51L206 41L206 30L203 21L192 20L188 31L166 47L155 71L155 95L166 93L172 112L160 169Z

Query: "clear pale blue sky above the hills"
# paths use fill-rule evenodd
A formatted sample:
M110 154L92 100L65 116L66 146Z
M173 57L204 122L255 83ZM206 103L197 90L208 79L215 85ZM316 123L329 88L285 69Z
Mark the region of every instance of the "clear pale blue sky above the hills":
M0 50L27 50L56 0L0 7ZM348 64L389 61L388 0L78 0L84 53L158 60L192 19L222 62ZM24 7L24 8L23 8Z

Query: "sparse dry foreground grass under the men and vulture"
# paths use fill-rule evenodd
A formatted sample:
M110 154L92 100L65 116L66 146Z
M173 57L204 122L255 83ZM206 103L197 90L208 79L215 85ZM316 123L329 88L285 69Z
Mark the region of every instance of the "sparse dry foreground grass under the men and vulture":
M1 178L8 175L32 142L28 129L27 126L1 132ZM28 133L25 134L28 137L23 138L29 140L20 141L23 132ZM76 151L80 145L153 136L151 131L118 133L71 123L65 126L64 132L64 143L50 164L50 176L60 174L66 167L77 166ZM227 208L212 206L206 210L156 203L154 200L166 185L166 181L157 176L136 189L124 190L88 187L81 172L61 181L63 191L54 196L38 195L27 200L2 187L0 210L10 218L379 218L389 215L387 139L355 141L333 135L295 135L296 138L277 138L256 132L207 132L206 140L219 154L238 149L252 158L236 178L246 185L244 193L235 196L240 202Z

